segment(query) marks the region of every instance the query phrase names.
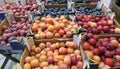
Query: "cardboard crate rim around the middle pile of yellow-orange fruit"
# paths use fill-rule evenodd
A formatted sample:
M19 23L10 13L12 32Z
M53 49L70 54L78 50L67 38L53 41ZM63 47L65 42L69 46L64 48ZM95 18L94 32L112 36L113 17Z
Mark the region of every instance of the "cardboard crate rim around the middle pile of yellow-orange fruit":
M29 31L29 33L28 33L28 35L27 35L27 37L29 38L29 37L32 37L33 39L35 39L35 40L51 40L51 39L57 39L57 37L55 37L55 36L52 36L52 37L50 37L50 38L48 38L48 36L45 34L45 38L42 38L42 37L40 37L40 38L36 38L36 34L37 33L35 33L34 31L33 31L33 27L34 27L34 24L35 24L35 22L36 21L40 21L40 20L34 20L34 23L33 23L33 25L31 26L31 30ZM40 24L40 23L39 23ZM44 23L43 23L44 24ZM77 26L77 24L74 24L75 26ZM67 24L66 24L66 26L67 26ZM65 27L64 27L65 28ZM47 28L46 28L47 29ZM62 28L61 28L62 29ZM54 31L56 31L55 29L54 29ZM71 31L71 30L70 30ZM43 32L43 31L42 31ZM80 27L78 27L77 28L77 30L75 30L75 31L71 31L71 36L69 36L69 37L67 37L67 35L66 35L66 32L64 32L64 35L65 36L60 36L59 38L61 38L61 39L66 39L66 38L71 38L71 37L73 37L73 35L74 34L79 34L80 32L85 32L85 30L84 29L82 29L82 28L80 28ZM56 33L56 32L55 32ZM53 33L54 35L55 35L55 33Z

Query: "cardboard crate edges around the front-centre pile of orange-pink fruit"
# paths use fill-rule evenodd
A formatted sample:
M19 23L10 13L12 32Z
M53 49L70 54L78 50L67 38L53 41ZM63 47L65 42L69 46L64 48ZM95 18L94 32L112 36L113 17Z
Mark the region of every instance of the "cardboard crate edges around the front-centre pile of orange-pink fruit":
M46 40L46 41L51 42L51 43L55 43L55 42L66 42L66 41L72 41L72 40L73 40L72 38L67 38L67 39L53 39L53 40L50 40L50 41L49 40L48 41ZM27 47L25 48L25 50L23 52L23 55L22 55L22 58L20 59L20 65L21 65L22 68L24 67L24 64L25 64L25 58L30 55L30 47L35 46L35 45L39 45L41 42L45 43L46 41L44 41L44 40L35 41L32 38L27 40L27 42L26 42ZM79 46L78 46L78 50L80 50ZM81 54L81 56L82 56L82 54ZM83 56L82 56L82 62L83 62ZM84 63L83 63L83 65L84 65Z

